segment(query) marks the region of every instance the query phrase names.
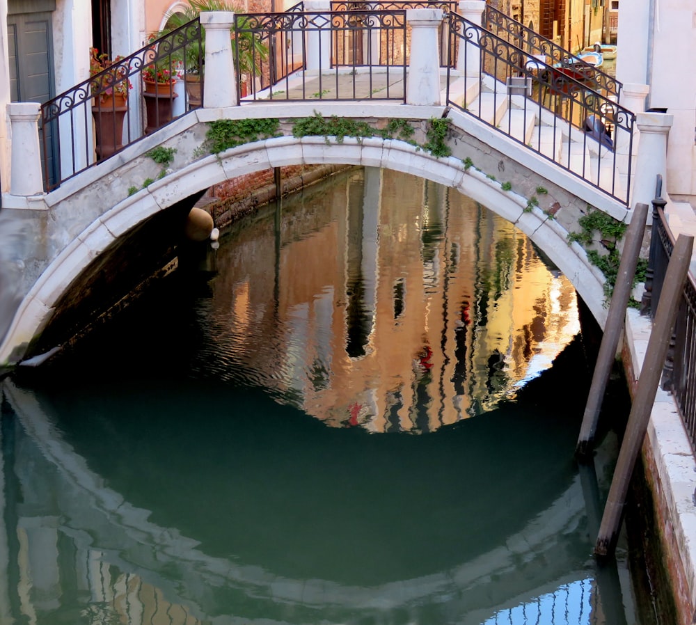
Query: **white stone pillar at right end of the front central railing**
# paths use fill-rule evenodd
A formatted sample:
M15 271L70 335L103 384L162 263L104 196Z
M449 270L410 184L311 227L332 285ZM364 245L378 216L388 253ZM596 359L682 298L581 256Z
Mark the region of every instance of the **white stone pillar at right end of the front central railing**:
M442 9L406 9L406 22L411 24L406 104L438 106L441 101L437 29L442 23Z

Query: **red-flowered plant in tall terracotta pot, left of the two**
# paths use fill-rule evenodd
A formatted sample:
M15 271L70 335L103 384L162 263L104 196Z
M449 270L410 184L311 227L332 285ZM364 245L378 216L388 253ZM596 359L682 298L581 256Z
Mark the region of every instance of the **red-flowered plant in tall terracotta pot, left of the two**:
M129 65L122 56L110 59L90 48L90 93L93 96L95 152L97 160L110 157L123 147L123 120L128 111Z

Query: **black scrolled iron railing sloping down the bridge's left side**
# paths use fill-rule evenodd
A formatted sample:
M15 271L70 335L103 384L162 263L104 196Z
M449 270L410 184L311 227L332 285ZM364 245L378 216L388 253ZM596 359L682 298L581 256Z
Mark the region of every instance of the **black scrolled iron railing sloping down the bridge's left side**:
M186 76L202 79L201 42L200 22L194 19L130 56L113 62L93 56L94 71L100 65L104 70L42 104L45 189L58 187L170 122L178 97L172 81ZM149 77L155 79L154 86L145 84ZM150 87L154 93L148 93ZM200 82L198 93L202 93ZM200 97L187 100L189 109L202 105Z

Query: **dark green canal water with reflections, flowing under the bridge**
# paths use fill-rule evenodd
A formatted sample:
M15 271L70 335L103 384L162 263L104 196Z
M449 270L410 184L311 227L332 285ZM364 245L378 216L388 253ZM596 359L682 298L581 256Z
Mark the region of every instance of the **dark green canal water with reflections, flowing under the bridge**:
M579 470L596 344L521 232L354 169L178 263L2 382L0 624L656 622L592 557L617 436Z

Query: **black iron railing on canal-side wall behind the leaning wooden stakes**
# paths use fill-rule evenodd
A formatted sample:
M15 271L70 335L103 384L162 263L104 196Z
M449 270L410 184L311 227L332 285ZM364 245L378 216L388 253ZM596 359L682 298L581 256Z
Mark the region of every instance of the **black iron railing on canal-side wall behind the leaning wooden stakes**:
M653 200L650 255L640 311L651 319L655 318L657 312L676 240L667 224L665 205L662 177L658 175L656 198ZM662 388L674 396L691 449L696 454L696 282L690 271L674 321L674 333L662 374Z

